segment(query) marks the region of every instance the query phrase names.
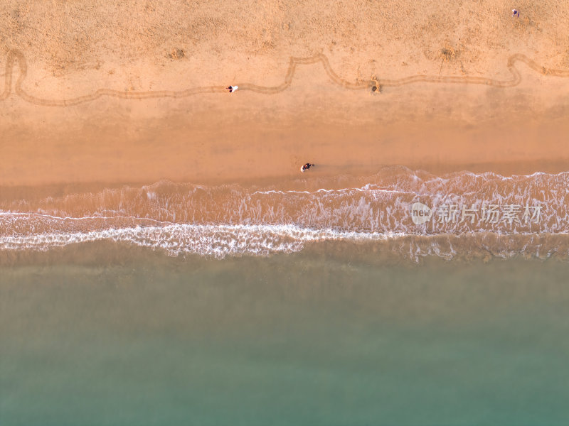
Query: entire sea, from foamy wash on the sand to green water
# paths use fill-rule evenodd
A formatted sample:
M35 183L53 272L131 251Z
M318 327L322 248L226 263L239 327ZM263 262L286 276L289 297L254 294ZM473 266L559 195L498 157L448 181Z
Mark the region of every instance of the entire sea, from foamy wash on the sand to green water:
M4 190L0 425L565 425L568 177Z

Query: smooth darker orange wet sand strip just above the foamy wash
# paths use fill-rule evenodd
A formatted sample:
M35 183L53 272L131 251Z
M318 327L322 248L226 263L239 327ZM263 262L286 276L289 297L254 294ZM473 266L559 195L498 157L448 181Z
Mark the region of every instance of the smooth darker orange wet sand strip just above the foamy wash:
M279 186L298 179L365 177L392 166L434 175L468 171L504 176L560 173L569 167L564 140L569 122L559 119L480 126L423 120L406 129L401 123L371 121L348 126L303 120L295 126L291 120L271 128L249 120L223 128L220 119L197 127L178 120L146 128L142 121L129 121L123 129L110 122L93 129L93 119L81 124L87 131L11 126L4 132L11 133L10 142L4 143L0 158L0 198L18 187L117 187L161 180ZM302 175L298 168L307 162L317 167Z

